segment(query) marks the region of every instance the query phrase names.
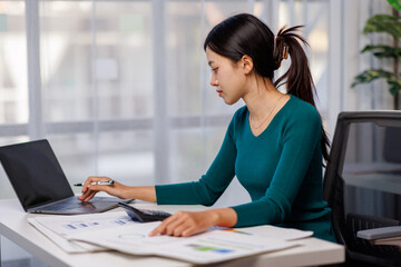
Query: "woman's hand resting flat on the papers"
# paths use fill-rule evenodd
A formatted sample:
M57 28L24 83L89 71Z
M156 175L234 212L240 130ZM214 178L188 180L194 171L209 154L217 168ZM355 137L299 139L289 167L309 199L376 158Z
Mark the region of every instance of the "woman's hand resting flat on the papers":
M156 227L149 236L168 235L187 237L206 231L218 221L218 214L212 210L190 212L178 211Z

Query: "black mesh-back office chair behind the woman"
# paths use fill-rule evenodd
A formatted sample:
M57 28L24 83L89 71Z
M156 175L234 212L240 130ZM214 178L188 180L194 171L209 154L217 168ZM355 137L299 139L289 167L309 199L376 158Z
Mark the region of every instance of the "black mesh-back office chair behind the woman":
M356 237L359 230L401 225L400 144L401 111L342 112L338 117L323 197L332 208L336 239L345 246L344 266L401 266L399 247ZM363 194L368 198L352 205L363 200ZM379 199L373 206L381 211L374 214L366 199Z

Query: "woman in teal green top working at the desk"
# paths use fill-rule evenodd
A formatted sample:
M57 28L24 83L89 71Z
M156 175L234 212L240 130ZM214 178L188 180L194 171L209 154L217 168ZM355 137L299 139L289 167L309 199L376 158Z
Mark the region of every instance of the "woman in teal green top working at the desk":
M204 49L212 68L211 85L227 105L243 99L222 148L198 181L155 187L91 185L108 180L89 177L84 201L97 191L157 204L213 205L233 177L250 192L252 202L200 212L178 211L150 235L190 236L212 226L277 225L313 230L335 241L331 210L322 200L322 155L327 137L314 107L314 85L307 58L296 34L299 27L277 37L252 14L233 16L215 26ZM291 56L290 69L273 83L274 70ZM284 81L287 93L277 90Z

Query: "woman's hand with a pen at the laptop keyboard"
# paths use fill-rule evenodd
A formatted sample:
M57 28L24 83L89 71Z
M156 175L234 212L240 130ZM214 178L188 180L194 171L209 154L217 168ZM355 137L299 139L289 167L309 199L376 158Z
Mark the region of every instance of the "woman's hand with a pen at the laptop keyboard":
M127 187L124 186L123 184L114 181L113 185L92 185L92 182L96 181L107 181L107 180L111 180L111 179L108 177L99 177L99 176L89 177L85 181L82 187L82 195L79 196L78 199L80 199L84 202L87 202L91 198L94 198L98 191L105 191L111 196L125 198L124 191Z

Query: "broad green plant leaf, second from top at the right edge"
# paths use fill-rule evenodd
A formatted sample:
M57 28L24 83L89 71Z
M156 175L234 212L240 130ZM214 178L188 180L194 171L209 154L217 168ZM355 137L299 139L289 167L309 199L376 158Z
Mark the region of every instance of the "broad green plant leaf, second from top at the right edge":
M401 18L391 14L375 14L366 21L363 33L385 32L401 38Z

